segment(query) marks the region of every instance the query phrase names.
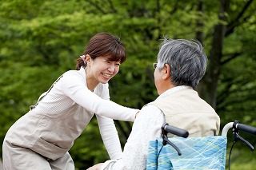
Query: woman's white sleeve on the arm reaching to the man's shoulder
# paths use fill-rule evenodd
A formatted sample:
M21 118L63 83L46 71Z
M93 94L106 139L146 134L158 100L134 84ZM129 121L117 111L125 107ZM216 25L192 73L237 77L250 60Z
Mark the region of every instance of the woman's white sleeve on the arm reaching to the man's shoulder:
M98 97L86 87L81 78L74 74L65 74L61 80L63 93L67 97L99 116L120 121L134 121L135 114L139 111Z

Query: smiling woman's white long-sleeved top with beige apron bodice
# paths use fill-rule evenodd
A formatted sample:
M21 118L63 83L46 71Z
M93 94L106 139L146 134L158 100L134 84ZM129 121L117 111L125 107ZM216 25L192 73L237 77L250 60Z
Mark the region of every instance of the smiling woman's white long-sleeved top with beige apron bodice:
M106 150L111 159L118 159L122 149L112 119L134 121L138 109L109 99L107 84L99 84L92 93L86 85L85 70L70 70L34 109L14 123L5 140L56 160L70 149L95 113Z

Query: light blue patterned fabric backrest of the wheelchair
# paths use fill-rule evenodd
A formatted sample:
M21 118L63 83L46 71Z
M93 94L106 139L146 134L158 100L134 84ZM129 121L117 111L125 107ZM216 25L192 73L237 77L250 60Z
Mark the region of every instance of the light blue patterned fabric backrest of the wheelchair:
M150 141L146 163L147 170L225 170L226 136L208 137L174 137L169 138L182 152L178 152L166 144L162 147L162 139Z

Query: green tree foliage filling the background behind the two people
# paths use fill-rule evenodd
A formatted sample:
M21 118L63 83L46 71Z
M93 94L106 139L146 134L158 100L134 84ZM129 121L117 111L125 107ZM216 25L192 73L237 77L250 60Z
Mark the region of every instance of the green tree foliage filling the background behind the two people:
M203 10L198 10L200 2ZM218 20L218 1L2 0L0 140L55 79L74 69L74 60L95 33L110 32L125 43L127 60L110 81L110 96L121 105L140 109L158 96L152 69L158 40L164 35L195 39L202 33L209 56L216 48L211 41L218 23L227 27L216 110L222 125L238 120L256 126L256 2L244 8L249 2L231 0L230 11L225 14L228 20L223 22ZM124 145L132 123L116 121L116 125ZM248 140L256 143L252 136ZM75 141L70 154L78 169L109 159L95 118Z

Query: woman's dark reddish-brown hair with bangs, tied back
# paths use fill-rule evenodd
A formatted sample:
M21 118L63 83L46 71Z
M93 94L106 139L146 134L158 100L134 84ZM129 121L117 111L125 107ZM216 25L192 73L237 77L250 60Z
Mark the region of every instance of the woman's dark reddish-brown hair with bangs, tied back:
M89 54L92 59L101 56L107 57L109 61L120 61L121 63L126 61L125 45L121 42L120 38L108 33L98 33L93 38L90 38L82 54ZM82 66L86 67L82 58L79 57L76 61L77 70Z

